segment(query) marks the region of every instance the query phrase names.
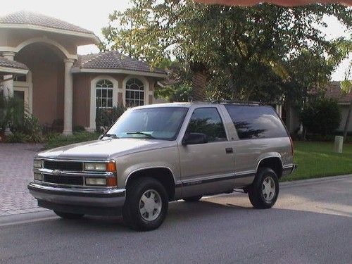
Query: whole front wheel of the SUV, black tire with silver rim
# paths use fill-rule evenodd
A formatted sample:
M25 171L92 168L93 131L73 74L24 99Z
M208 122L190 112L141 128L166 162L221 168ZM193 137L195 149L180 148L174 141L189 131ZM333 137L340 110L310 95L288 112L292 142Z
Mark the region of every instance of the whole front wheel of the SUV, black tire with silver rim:
M122 210L126 224L134 230L155 230L165 220L168 211L168 194L161 182L141 177L127 186Z

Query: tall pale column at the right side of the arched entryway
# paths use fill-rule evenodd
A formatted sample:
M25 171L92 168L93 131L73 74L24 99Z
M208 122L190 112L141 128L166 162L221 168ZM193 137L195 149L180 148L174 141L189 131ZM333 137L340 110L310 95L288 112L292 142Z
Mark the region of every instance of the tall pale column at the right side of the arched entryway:
M73 77L70 72L75 60L72 58L65 59L65 92L64 92L64 109L63 109L63 134L72 134L73 120Z

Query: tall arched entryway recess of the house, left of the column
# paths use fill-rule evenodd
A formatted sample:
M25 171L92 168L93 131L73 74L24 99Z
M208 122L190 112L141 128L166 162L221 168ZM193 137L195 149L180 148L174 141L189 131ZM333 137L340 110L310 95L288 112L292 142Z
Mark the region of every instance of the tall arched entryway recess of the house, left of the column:
M30 43L14 59L30 69L27 76L14 80L14 94L25 98L27 108L41 125L56 124L63 129L66 59L63 51L44 42Z

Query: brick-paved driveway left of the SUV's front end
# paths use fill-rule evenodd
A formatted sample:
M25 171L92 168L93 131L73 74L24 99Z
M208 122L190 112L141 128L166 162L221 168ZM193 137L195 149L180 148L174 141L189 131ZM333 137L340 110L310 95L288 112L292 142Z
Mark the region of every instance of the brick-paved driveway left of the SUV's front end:
M44 208L30 196L33 157L42 144L0 144L0 217L32 213Z

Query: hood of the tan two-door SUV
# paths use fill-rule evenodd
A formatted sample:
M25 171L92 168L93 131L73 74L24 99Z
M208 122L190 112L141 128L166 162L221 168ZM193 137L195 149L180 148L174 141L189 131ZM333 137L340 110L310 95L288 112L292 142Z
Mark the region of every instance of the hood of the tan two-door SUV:
M176 142L158 139L103 139L61 146L38 153L37 157L104 161L134 152L163 149L171 146L176 146Z

